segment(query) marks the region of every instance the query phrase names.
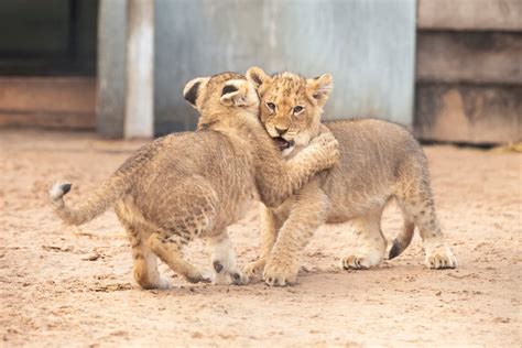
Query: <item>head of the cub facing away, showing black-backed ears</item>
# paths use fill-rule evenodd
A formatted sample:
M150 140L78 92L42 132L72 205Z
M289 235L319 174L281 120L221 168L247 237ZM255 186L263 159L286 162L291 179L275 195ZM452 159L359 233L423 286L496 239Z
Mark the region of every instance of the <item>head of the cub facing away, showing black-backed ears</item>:
M236 73L195 78L186 84L183 97L199 111L198 129L233 121L240 116L257 119L259 113L254 86Z

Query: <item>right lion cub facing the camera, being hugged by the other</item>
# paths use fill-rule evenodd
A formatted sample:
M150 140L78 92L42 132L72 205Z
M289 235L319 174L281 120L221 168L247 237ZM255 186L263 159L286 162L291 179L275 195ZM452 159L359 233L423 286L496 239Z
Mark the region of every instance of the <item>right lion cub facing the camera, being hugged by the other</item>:
M341 260L344 269L368 269L387 257L381 215L395 199L404 217L402 233L388 258L410 244L415 226L424 242L426 264L432 269L455 268L457 260L447 246L435 214L426 157L404 128L374 119L320 123L323 107L333 89L329 74L316 78L283 73L267 75L252 67L247 73L261 99L260 118L286 159L293 159L322 133L339 141L339 164L319 173L295 196L264 211L259 259L246 268L263 273L269 285L292 284L297 278L303 248L324 222L352 220L357 247Z

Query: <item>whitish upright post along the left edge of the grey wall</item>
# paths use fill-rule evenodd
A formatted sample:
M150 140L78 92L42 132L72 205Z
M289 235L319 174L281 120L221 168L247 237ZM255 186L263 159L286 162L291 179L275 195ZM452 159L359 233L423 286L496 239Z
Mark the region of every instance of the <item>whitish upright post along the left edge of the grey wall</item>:
M124 137L154 135L154 0L128 0Z

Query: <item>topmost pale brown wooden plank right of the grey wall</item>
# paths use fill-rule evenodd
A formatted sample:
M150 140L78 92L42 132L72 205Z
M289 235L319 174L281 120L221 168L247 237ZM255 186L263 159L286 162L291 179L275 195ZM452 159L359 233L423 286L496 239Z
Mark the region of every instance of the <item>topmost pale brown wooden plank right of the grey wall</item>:
M428 30L522 31L522 1L418 0L417 26Z

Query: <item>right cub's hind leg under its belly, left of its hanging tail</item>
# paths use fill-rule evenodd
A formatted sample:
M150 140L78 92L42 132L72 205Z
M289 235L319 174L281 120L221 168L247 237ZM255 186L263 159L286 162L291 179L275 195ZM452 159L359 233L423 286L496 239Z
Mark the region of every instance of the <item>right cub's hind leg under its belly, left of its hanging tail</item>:
M340 261L345 270L365 270L378 265L385 257L387 239L381 231L382 208L352 220L356 247Z

